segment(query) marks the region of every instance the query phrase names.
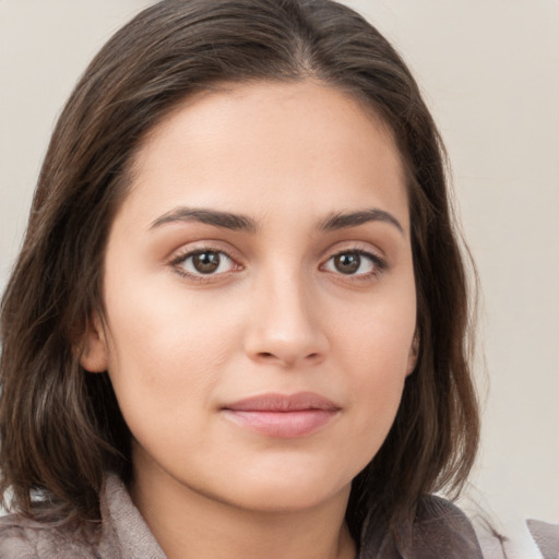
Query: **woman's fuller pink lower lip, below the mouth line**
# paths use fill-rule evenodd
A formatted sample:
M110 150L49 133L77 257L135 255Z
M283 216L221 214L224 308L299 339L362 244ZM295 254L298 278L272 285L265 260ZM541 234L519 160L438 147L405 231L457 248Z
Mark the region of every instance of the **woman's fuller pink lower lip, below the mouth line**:
M250 412L224 409L224 413L233 423L260 435L293 439L319 431L337 414L337 411Z

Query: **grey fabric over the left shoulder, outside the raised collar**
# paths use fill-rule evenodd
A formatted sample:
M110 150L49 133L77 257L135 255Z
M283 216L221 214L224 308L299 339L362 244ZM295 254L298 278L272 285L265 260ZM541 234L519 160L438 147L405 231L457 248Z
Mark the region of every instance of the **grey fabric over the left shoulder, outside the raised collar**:
M0 559L95 559L94 546L71 527L15 514L0 518Z

